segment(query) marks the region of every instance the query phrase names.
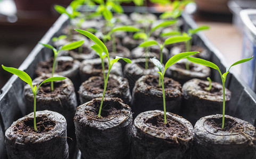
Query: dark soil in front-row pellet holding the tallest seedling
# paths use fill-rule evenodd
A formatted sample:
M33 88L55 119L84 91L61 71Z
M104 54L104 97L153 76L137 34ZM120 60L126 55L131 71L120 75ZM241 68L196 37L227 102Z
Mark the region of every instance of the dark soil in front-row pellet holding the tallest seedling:
M101 110L101 117L98 118L98 111L100 110L101 101L95 101L90 103L93 107L93 110L86 110L85 114L88 120L97 120L97 121L108 121L117 116L120 116L122 113L128 113L122 111L122 105L117 101L104 101Z

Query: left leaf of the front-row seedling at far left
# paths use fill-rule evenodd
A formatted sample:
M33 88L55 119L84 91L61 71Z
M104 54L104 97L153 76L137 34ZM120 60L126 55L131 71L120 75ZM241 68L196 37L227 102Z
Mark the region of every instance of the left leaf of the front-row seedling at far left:
M22 70L19 70L19 69L16 69L16 68L13 68L13 67L5 67L4 65L2 65L3 69L6 70L7 72L10 72L14 75L17 75L18 77L20 77L20 79L24 82L26 82L27 84L30 85L31 89L33 89L33 86L32 86L32 80L30 78L30 76L22 71Z

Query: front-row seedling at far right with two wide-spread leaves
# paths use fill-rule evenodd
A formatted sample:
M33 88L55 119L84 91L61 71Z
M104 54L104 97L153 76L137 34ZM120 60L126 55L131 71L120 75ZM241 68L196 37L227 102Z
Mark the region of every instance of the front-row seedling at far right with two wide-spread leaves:
M227 78L227 74L229 73L229 69L232 67L232 66L235 66L235 65L238 65L238 64L241 64L241 63L245 63L246 61L249 61L251 60L253 57L251 58L245 58L245 59L242 59L242 60L239 60L239 61L236 61L234 64L232 64L230 67L226 68L226 72L224 74L222 74L220 72L220 69L217 65L211 63L210 61L207 61L207 60L204 60L204 59L200 59L200 58L195 58L195 57L187 57L187 59L189 61L191 61L192 63L197 63L197 64L201 64L201 65L204 65L204 66L208 66L208 67L211 67L213 69L217 69L219 74L220 74L220 77L221 77L221 81L222 81L222 91L223 91L223 111L222 111L222 126L221 128L223 129L224 128L224 122L225 122L225 82L226 82L226 78Z

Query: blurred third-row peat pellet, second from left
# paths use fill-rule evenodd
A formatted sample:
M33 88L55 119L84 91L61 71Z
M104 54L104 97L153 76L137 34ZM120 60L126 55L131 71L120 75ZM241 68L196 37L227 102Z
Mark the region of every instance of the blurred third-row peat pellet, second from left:
M104 59L104 68L105 68L105 74L107 74L109 70L109 65L108 65L108 59L106 58ZM115 74L117 76L122 76L123 74L122 74L121 63L119 62L115 63L112 66L110 73ZM103 76L101 58L82 61L79 68L79 74L81 76L82 82L88 80L92 76Z

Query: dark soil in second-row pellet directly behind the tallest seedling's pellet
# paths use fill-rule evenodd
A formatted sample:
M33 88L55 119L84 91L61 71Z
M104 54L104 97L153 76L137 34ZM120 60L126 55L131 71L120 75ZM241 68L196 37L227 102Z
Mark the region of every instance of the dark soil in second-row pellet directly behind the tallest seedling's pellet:
M88 92L97 94L97 93L103 93L104 90L104 78L103 76L97 76L94 78L94 80L90 83L83 83L82 84ZM119 83L114 78L109 77L108 85L106 86L106 92L107 91L115 91L119 87Z

